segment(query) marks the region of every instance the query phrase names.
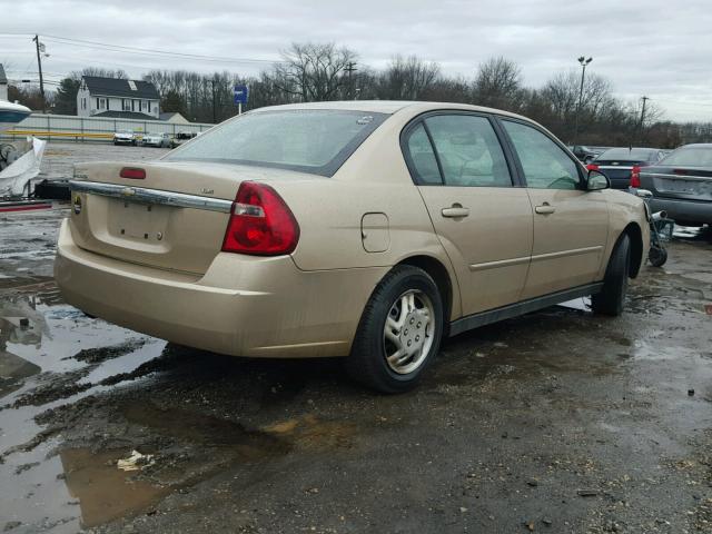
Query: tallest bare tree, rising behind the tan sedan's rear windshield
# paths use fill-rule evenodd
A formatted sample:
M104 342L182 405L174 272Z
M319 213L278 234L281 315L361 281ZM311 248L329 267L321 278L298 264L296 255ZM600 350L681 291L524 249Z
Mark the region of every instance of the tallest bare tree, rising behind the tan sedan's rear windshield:
M293 43L281 53L284 61L273 71L273 82L283 92L304 102L336 100L344 93L347 69L357 59L348 48L334 43Z

